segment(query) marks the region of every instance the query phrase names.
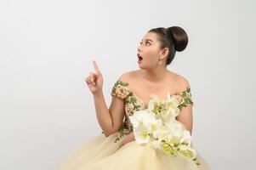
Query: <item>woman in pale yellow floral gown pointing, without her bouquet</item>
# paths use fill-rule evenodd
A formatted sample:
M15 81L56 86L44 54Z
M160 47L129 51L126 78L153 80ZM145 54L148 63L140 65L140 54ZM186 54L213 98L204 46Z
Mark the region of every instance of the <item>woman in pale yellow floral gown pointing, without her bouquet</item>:
M95 111L103 132L84 141L60 162L57 170L196 170L209 169L197 153L196 165L184 156L169 156L156 150L151 143L135 140L133 124L128 116L148 108L150 95L159 99L167 95L181 96L179 116L187 131L192 133L191 87L185 77L167 70L176 51L183 51L188 43L185 31L179 26L151 29L138 47L139 70L122 74L111 91L111 105L105 104L102 93L103 77L93 60L94 72L86 78L94 95ZM180 94L180 95L179 95ZM184 102L185 101L185 102Z

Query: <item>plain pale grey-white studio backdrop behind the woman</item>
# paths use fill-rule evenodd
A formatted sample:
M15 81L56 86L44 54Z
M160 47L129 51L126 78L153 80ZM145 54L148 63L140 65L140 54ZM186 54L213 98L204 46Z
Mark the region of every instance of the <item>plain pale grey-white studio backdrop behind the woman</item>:
M139 69L146 31L189 37L170 71L191 84L193 145L212 169L255 169L255 1L0 2L0 169L54 169L101 133L84 79L95 59L105 102ZM121 163L121 162L120 162Z

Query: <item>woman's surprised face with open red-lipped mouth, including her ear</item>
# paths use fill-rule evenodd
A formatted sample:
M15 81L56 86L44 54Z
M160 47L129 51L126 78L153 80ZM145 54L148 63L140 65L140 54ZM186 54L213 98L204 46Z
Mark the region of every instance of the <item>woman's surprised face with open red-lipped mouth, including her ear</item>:
M162 59L162 65L165 65L167 57L167 48L160 49L160 42L157 40L155 32L147 32L145 37L139 42L138 64L141 69L151 69L158 66L158 59Z

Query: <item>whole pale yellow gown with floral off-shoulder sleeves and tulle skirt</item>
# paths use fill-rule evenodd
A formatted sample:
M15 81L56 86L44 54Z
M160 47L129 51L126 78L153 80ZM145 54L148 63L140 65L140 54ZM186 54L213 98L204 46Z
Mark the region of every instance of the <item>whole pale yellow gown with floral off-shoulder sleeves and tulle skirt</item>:
M209 170L208 163L197 151L196 165L194 161L184 156L170 156L162 150L156 150L151 142L138 144L135 140L124 144L119 149L121 141L128 133L133 132L128 116L134 111L145 109L142 99L128 88L128 82L117 80L112 91L125 101L125 116L122 126L116 133L108 137L103 132L91 137L71 150L65 159L58 162L55 170ZM179 96L179 108L193 105L191 88L172 94ZM194 148L195 149L195 148Z

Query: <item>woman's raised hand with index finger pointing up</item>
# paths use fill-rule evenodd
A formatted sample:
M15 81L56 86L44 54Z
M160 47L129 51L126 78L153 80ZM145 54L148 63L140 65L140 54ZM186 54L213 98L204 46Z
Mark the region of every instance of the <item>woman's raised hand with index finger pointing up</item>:
M88 85L88 88L92 94L97 94L102 91L103 86L103 77L100 72L99 67L96 64L96 61L93 59L94 72L90 72L89 76L85 79L85 82Z

